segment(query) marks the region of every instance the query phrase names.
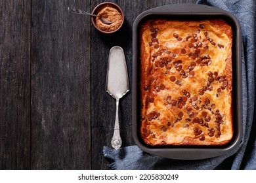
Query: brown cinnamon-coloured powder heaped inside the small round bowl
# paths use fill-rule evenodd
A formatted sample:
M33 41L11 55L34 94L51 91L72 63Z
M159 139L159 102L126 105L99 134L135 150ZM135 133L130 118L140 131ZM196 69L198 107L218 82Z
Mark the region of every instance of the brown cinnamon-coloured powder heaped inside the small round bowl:
M96 26L101 29L102 31L115 31L118 29L123 21L123 17L121 16L121 13L119 10L117 10L114 7L106 6L101 8L98 13L98 17L106 18L106 20L113 22L112 24L103 24L98 17L95 18L95 24Z

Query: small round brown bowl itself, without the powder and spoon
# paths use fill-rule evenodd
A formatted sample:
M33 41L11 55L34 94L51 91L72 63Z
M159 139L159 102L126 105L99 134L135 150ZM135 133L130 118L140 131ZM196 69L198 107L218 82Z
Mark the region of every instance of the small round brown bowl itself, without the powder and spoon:
M101 33L105 33L105 34L110 34L110 33L115 33L116 31L118 31L121 26L123 25L123 22L124 22L124 15L123 15L123 10L118 6L116 5L115 3L111 3L111 2L104 2L104 3L100 3L99 5L97 5L94 10L93 10L93 14L98 14L98 11L103 8L103 7L113 7L115 8L116 10L118 10L120 13L121 13L121 16L122 16L122 22L121 22L121 25L119 25L119 27L117 29L115 29L114 31L104 31L102 29L100 29L96 23L95 23L95 16L92 16L91 18L91 21L93 22L93 25L95 26L95 28L100 31Z

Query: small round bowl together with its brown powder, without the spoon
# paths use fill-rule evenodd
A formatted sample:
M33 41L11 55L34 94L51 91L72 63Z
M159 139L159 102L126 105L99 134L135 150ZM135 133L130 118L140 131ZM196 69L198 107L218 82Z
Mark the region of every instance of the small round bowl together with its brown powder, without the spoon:
M101 3L95 7L93 14L98 16L92 18L93 25L102 33L114 33L123 25L123 11L114 3ZM102 23L99 17L106 18L112 24Z

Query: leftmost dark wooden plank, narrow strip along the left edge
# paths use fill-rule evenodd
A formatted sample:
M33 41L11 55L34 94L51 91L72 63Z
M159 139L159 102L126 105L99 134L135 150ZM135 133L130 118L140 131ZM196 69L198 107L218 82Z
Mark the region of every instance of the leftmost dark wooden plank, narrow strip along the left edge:
M30 169L30 1L0 7L0 169Z

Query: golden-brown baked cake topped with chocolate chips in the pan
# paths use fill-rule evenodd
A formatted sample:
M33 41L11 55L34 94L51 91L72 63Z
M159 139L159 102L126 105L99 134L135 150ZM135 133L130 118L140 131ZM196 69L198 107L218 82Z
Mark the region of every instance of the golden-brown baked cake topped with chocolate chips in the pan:
M232 29L224 20L148 20L140 29L140 135L151 146L233 136Z

